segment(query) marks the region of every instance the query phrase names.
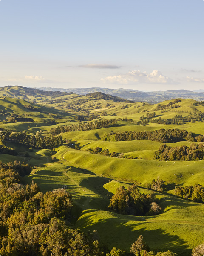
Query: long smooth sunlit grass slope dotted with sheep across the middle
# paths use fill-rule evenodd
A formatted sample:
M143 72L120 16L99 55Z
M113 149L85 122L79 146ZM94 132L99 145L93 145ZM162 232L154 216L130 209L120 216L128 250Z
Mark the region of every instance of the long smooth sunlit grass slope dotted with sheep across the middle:
M160 176L166 183L204 185L204 160L202 161L153 161L121 159L59 147L55 156L68 160L71 165L91 170L97 175L112 175L118 179L133 179L142 185ZM182 177L181 177L182 176Z

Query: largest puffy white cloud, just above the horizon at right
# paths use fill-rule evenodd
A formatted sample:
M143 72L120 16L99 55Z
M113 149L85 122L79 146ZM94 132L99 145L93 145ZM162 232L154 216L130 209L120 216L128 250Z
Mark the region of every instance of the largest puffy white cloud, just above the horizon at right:
M133 70L127 74L118 76L107 76L101 78L103 82L119 83L119 84L133 84L133 83L147 83L147 84L178 84L168 76L164 76L160 71L153 70L152 73L140 70Z

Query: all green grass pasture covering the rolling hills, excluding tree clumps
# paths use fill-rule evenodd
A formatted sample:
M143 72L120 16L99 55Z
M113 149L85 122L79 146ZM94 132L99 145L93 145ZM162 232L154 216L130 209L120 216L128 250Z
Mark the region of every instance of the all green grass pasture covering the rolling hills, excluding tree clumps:
M143 105L143 102L113 102L113 100L97 100L76 94L54 99L39 95L29 95L24 98L22 88L18 95L20 99L10 98L12 97L10 88L4 92L0 90L0 96L3 96L0 99L0 120L6 119L5 113L9 113L24 117L28 115L35 121L0 124L0 128L28 131L30 134L36 134L37 131L42 130L43 136L55 127L47 123L52 119L60 122L57 125L77 124L76 116L85 116L87 114L85 111L89 111L89 114L99 114L103 119L126 119L127 117L127 119L133 119L133 122L153 112L156 112L156 118L161 116L161 119L173 118L176 115L189 116L191 112L204 112L204 106L193 106L195 101L191 99L181 99L181 102L174 104L178 108L167 107L161 111L156 110L159 104L164 106L173 100ZM25 99L36 103L29 103ZM31 111L23 107L27 104L39 108L39 111ZM79 107L79 111L76 107ZM23 177L23 183L31 183L33 180L42 192L58 188L67 189L74 202L71 212L73 227L85 231L98 230L100 240L109 249L116 246L129 251L131 244L139 235L142 235L152 250L172 250L178 253L178 256L190 256L192 248L204 240L204 204L187 201L172 194L175 185L186 186L199 183L204 186L204 160L155 161L153 156L161 145L159 142L101 140L103 135L111 132L150 131L161 128L179 128L192 131L195 135L204 134L204 122L189 122L183 125L149 123L141 126L118 120L116 127L62 134L63 139L76 143L81 147L80 150L70 148L66 144L55 148L54 151L34 149L30 152L25 145L8 141L6 146L15 147L19 155L17 157L0 155L0 160L4 163L14 160L29 163L33 170L30 175ZM167 146L190 146L191 143L178 142L167 144ZM89 148L96 147L101 147L103 150L108 148L111 153L119 152L136 159L108 157L88 152ZM29 157L24 156L26 152ZM157 177L164 180L168 192L155 193L162 207L161 214L148 217L128 216L108 211L110 198L119 186L127 188L130 186L130 180L134 180L139 182L142 193L150 193L151 190L146 187Z

